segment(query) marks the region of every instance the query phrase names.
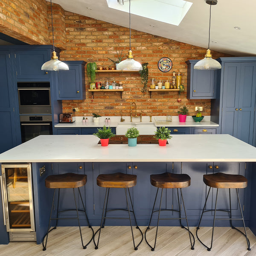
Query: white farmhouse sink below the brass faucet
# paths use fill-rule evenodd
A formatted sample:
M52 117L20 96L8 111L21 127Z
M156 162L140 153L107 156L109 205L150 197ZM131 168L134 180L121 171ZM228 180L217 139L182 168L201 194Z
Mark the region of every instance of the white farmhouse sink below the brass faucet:
M154 135L157 130L153 122L120 122L116 127L116 135L124 135L131 127L136 127L140 135Z

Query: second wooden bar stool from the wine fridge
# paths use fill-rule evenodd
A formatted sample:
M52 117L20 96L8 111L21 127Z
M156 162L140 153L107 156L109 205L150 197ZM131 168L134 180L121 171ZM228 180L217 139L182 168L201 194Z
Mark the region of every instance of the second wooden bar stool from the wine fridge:
M117 173L113 173L113 174L100 174L97 177L97 185L100 186L100 187L106 188L106 194L105 194L105 201L104 201L104 206L103 206L103 211L102 211L101 224L100 224L99 229L96 231L96 233L99 231L99 237L100 237L101 229L104 228L105 220L107 218L108 219L110 219L110 218L111 219L129 219L130 224L131 224L131 234L132 234L132 240L133 240L133 244L134 244L134 250L138 250L138 246L141 244L141 242L143 240L143 233L140 230L140 227L138 227L138 225L137 225L137 220L136 220L135 213L134 213L134 207L133 207L132 200L131 200L131 194L130 194L130 191L129 191L129 188L135 186L136 183L137 183L137 176L136 175L130 175L130 174L125 174L125 173L121 173L121 172L117 172ZM123 189L125 189L127 209L108 209L108 196L109 196L109 189L110 188L123 188ZM127 190L128 190L132 210L130 210L130 208L129 208ZM119 211L119 210L127 211L128 215L129 215L129 218L106 217L107 212ZM141 239L140 243L137 244L137 246L135 245L135 242L134 242L134 233L133 233L133 230L132 230L131 214L130 214L131 212L134 214L134 220L135 220L136 228L140 230L140 233L142 235L142 239ZM104 220L104 222L103 222L103 220ZM95 233L95 235L96 235L96 233ZM95 235L94 235L94 237L95 237ZM98 237L98 242L97 242L97 245L96 245L95 249L98 249L99 237Z

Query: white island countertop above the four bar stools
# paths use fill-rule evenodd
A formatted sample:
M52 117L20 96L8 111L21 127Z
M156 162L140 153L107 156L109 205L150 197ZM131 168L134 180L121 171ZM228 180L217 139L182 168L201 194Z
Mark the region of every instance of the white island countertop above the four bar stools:
M157 144L98 145L93 135L41 135L0 154L0 163L20 162L256 162L256 148L227 134L172 135Z

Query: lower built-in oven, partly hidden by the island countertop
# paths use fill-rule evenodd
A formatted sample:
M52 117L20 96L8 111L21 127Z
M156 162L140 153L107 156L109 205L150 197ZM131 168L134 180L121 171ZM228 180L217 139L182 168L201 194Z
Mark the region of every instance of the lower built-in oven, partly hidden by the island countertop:
M20 116L20 130L22 143L31 140L39 135L52 134L52 116Z

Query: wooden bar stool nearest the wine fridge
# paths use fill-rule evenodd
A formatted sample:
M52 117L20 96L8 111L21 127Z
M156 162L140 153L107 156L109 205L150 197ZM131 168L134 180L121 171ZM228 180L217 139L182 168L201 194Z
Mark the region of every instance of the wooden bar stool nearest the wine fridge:
M60 175L50 175L45 179L45 186L49 189L54 189L54 192L53 192L53 198L52 198L52 208L51 208L51 213L50 213L50 218L49 218L48 230L47 230L47 234L44 236L44 239L46 237L45 244L44 244L44 239L43 239L43 251L46 250L46 245L47 245L47 239L48 239L49 232L56 229L57 224L58 224L58 220L60 220L60 219L77 219L78 220L78 225L79 225L79 230L80 230L80 236L81 236L81 242L82 242L83 249L86 249L87 245L90 244L90 242L93 240L94 231L93 231L93 228L91 227L91 225L89 223L89 220L88 220L88 217L87 217L87 214L86 214L86 210L85 210L85 204L83 202L81 192L80 192L80 189L79 189L79 187L84 186L86 184L86 182L87 182L87 175L75 174L75 173L70 173L70 172L65 173L65 174L60 174ZM75 201L75 204L76 204L76 209L62 209L62 210L59 210L60 189L66 189L66 188L73 188L73 195L74 195L74 201ZM82 210L77 208L75 188L78 188L78 191L79 191L79 196L81 198L81 202L82 202L82 205L83 205ZM56 189L58 189L57 216L56 216L56 218L52 218L52 209L53 209L53 205L54 205L54 197L55 197L55 190ZM77 217L73 217L73 218L59 218L58 217L58 214L60 212L66 212L66 211L76 211ZM83 238L82 238L82 233L81 233L81 226L80 226L80 221L79 221L79 211L82 211L82 212L85 213L87 223L88 223L88 227L91 228L91 230L93 232L92 238L90 239L90 241L86 245L84 245L84 243L83 243ZM56 224L55 224L55 227L53 227L50 230L51 220L56 220Z

